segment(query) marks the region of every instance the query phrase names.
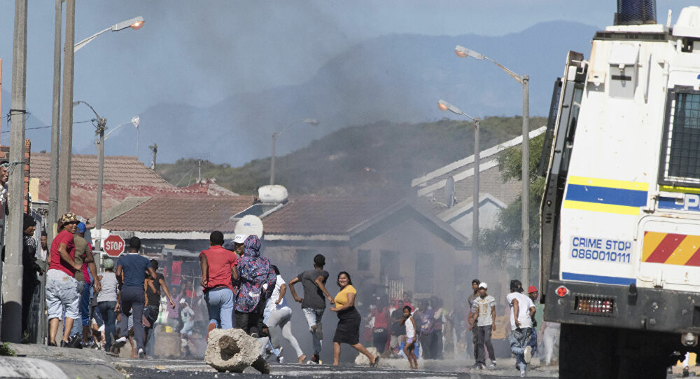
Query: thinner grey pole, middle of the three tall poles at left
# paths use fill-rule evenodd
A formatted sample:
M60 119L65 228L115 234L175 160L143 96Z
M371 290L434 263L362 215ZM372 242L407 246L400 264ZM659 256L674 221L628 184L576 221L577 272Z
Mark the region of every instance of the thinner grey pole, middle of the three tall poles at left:
M58 150L61 135L61 25L63 1L56 0L53 37L53 103L51 107L51 176L48 190L48 246L56 235L58 221Z

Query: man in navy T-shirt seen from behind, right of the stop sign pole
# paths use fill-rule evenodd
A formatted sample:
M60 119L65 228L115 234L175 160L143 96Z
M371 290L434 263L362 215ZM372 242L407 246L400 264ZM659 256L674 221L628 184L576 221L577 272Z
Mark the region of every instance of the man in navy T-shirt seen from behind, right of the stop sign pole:
M127 343L129 333L129 316L134 315L134 339L136 340L139 358L146 356L144 350L144 306L146 305L146 293L144 292L144 281L146 275L155 280L155 270L151 266L151 261L145 256L139 255L141 250L141 239L131 237L129 240L129 252L120 256L117 261L115 274L118 282L122 284L120 298L120 336L114 341L114 346L121 348Z

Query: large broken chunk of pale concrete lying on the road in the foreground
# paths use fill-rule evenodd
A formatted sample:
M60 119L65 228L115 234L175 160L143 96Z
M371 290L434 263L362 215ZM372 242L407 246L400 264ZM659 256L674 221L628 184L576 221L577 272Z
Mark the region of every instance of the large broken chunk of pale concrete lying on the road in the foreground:
M218 371L242 373L253 367L269 373L269 365L260 356L262 343L241 329L214 329L209 332L204 362Z

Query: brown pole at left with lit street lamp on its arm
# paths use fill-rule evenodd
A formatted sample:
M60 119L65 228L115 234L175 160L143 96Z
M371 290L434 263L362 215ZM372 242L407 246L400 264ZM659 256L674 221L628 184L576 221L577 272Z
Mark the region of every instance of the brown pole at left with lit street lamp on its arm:
M57 9L59 5L57 4ZM73 149L72 147L72 140L73 140L73 55L76 51L80 50L80 48L83 48L83 46L87 45L87 43L90 43L93 39L97 38L100 34L104 32L118 32L123 29L127 28L132 28L132 29L141 29L141 27L144 26L144 18L141 16L138 16L136 18L132 18L130 20L125 20L123 22L119 22L118 24L112 25L111 27L104 29L100 32L97 32L95 34L92 34L92 36L87 37L86 39L83 39L83 41L80 41L78 43L73 44L75 41L75 8L76 8L76 2L75 0L66 0L66 46L73 46L72 49L64 48L64 64L66 65L65 70L64 70L64 77L63 77L63 83L64 83L64 89L63 89L63 104L62 104L62 129L63 132L61 133L60 136L60 148L58 146L58 142L54 144L53 138L52 138L52 146L51 146L51 151L53 155L53 151L58 151L59 152L59 162L61 163L61 166L63 167L62 170L58 170L59 165L52 165L51 169L51 178L53 180L53 177L57 177L58 180L57 182L60 184L56 188L57 191L57 201L56 201L56 211L55 214L57 217L57 214L59 213L65 213L68 212L71 205L70 205L70 198L71 198L71 151ZM57 19L59 16L57 16ZM57 56L54 56L54 75L56 76L59 71L60 71L60 62L56 62ZM59 65L58 70L56 70L56 65ZM55 81L55 79L54 79ZM54 85L54 101L56 101L58 97L58 92L60 88L57 85ZM57 109L54 109L54 116L53 118L57 118ZM52 135L56 134L58 135L58 125L52 125ZM53 170L57 171L57 173L53 172ZM52 203L49 205L50 207L52 206ZM51 209L49 209L49 214L51 214ZM52 219L50 222L55 223L56 219Z

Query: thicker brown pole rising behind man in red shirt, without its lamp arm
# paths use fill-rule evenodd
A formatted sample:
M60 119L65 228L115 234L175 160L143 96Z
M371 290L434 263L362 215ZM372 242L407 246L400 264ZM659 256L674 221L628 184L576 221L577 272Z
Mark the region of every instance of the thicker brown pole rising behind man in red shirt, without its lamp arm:
M73 153L73 45L76 42L76 0L66 0L66 41L63 49L63 98L59 149L58 212L71 209L71 154ZM56 220L52 220L55 222Z

